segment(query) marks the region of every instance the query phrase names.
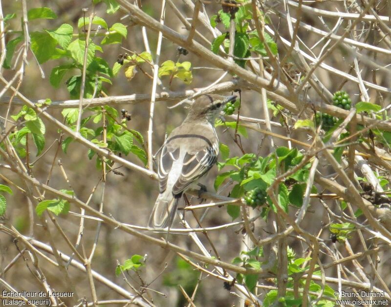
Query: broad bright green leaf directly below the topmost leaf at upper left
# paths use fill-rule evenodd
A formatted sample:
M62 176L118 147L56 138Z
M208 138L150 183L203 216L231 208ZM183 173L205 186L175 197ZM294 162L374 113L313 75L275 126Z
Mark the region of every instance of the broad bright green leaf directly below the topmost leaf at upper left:
M56 53L57 41L47 32L30 33L31 50L34 52L38 63L42 64Z

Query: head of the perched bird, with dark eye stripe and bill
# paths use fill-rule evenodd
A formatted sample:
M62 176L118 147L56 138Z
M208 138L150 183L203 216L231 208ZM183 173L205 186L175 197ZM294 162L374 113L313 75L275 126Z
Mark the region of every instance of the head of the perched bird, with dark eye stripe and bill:
M187 119L207 119L214 123L227 102L235 101L237 96L221 96L217 94L202 95L195 99L189 110Z

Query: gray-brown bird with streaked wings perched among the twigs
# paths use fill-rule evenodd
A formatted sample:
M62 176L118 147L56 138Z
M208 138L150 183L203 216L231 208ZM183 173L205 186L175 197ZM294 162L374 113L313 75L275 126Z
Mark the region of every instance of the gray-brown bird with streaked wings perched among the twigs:
M170 228L186 189L217 161L215 119L236 96L202 95L195 99L183 123L163 144L158 159L159 196L149 220L154 229Z

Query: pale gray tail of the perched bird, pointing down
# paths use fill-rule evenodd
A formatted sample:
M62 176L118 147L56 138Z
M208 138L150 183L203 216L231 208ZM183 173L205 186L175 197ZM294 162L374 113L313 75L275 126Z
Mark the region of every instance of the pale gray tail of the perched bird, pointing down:
M173 224L176 208L180 195L173 196L166 195L166 193L161 193L156 199L155 205L152 210L148 226L151 228L170 228Z

